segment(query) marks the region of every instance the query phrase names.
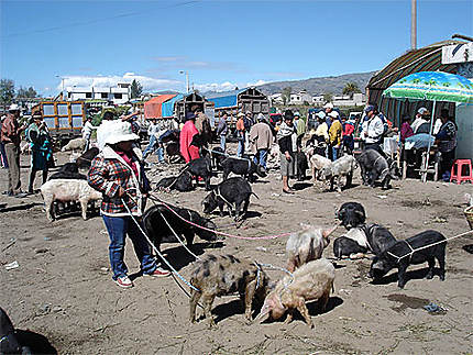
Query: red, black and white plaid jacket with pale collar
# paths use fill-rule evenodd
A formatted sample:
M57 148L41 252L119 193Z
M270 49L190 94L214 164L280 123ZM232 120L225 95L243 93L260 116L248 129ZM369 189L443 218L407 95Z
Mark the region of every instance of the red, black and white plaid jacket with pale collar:
M133 149L133 162L139 165L139 176L111 147L103 151L92 160L88 173L88 182L96 190L102 192L100 211L109 217L129 215L122 198L133 215L142 215L146 199L143 193L151 190L150 181L144 175L144 168L138 156L139 149ZM127 195L118 197L118 190L122 187Z

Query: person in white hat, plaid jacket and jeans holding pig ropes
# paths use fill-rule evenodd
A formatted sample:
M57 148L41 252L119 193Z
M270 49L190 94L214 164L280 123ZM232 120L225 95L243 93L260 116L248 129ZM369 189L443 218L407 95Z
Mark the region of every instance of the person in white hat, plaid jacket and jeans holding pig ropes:
M157 266L146 238L136 225L138 223L143 229L141 217L147 192L151 190L141 151L133 144L138 138L129 122L118 121L111 125L110 134L106 137L106 146L94 158L87 177L89 185L102 193L100 214L110 237L112 279L123 288L133 286L124 263L127 235L133 243L143 275L153 277L169 275L169 271Z

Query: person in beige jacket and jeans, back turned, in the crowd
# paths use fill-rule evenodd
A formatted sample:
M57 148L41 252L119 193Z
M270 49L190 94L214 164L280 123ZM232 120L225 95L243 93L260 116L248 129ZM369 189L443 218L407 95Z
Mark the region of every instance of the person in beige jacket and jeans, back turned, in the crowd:
M266 169L266 157L273 143L273 132L262 113L257 117L257 123L250 130L249 141L251 153L254 154L254 164L261 165Z

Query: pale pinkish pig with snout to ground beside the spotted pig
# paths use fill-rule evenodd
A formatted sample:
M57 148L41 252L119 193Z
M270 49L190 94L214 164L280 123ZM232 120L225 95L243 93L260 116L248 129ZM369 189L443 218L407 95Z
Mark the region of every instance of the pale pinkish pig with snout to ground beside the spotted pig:
M297 309L306 323L314 328L306 302L319 300L320 309L323 311L329 301L334 278L336 269L326 258L302 265L293 276L288 275L277 282L274 290L266 296L256 319L264 321L271 317L276 320L288 312L285 321L287 324L293 320L293 312Z

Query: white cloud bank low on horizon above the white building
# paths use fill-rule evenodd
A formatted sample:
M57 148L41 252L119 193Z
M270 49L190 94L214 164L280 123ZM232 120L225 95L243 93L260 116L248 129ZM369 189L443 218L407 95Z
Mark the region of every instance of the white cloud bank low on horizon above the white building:
M78 88L110 88L116 87L118 82L132 82L134 79L143 86L144 91L160 91L160 90L182 90L183 81L169 79L156 79L134 73L125 73L123 76L65 76L64 87L76 86ZM62 82L56 87L57 90L62 89Z

